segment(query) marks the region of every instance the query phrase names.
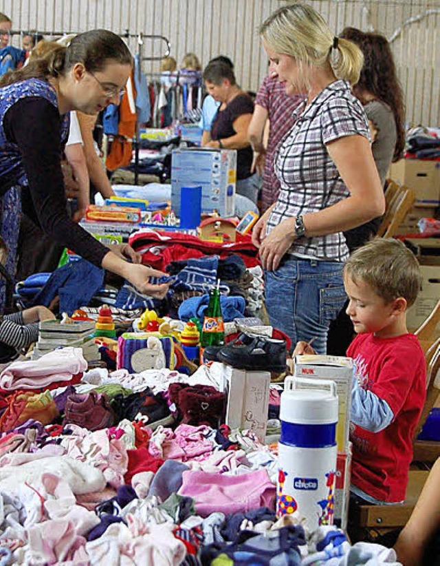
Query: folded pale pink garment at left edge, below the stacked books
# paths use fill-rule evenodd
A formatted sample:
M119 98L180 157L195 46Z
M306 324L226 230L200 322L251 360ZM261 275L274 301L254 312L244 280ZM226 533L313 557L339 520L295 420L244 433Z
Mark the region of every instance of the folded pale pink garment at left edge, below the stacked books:
M81 348L62 348L36 360L12 362L0 374L0 388L10 391L47 387L53 381L69 381L86 369Z

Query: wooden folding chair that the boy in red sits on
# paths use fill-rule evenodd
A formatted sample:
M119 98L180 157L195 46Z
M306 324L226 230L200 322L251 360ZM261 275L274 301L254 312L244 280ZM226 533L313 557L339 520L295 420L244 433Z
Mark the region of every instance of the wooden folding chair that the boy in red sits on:
M440 384L440 339L426 353L428 362L426 403L421 413L419 426L415 434L414 446L417 445L417 435L426 421L432 406L439 395ZM408 361L408 363L410 363ZM437 377L437 379L436 379ZM428 470L410 470L406 498L399 505L358 505L349 516L349 534L353 542L360 540L373 541L375 537L386 531L403 527L408 521L412 510L419 499L419 494L428 477Z

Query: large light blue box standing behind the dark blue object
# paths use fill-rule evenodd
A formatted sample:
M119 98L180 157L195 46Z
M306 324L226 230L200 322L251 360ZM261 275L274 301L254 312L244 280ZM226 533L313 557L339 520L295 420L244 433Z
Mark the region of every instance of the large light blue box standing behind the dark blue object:
M201 211L223 218L235 211L235 149L180 148L171 156L171 208L180 213L180 187L201 185Z

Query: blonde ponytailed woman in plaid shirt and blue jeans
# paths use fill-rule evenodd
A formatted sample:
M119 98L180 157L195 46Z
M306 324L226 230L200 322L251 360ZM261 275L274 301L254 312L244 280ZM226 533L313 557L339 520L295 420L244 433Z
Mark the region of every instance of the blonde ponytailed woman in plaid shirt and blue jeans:
M323 354L330 321L346 299L342 231L385 208L364 109L350 90L363 58L303 3L276 10L260 34L270 74L305 100L278 145L278 199L255 224L252 241L265 269L270 323L293 344L315 338Z

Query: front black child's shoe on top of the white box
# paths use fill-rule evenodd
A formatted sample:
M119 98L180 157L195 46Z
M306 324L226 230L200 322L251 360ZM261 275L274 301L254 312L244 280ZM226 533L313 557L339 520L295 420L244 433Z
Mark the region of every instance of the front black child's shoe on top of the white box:
M285 371L286 356L285 340L244 333L217 353L219 361L233 368L279 373Z

